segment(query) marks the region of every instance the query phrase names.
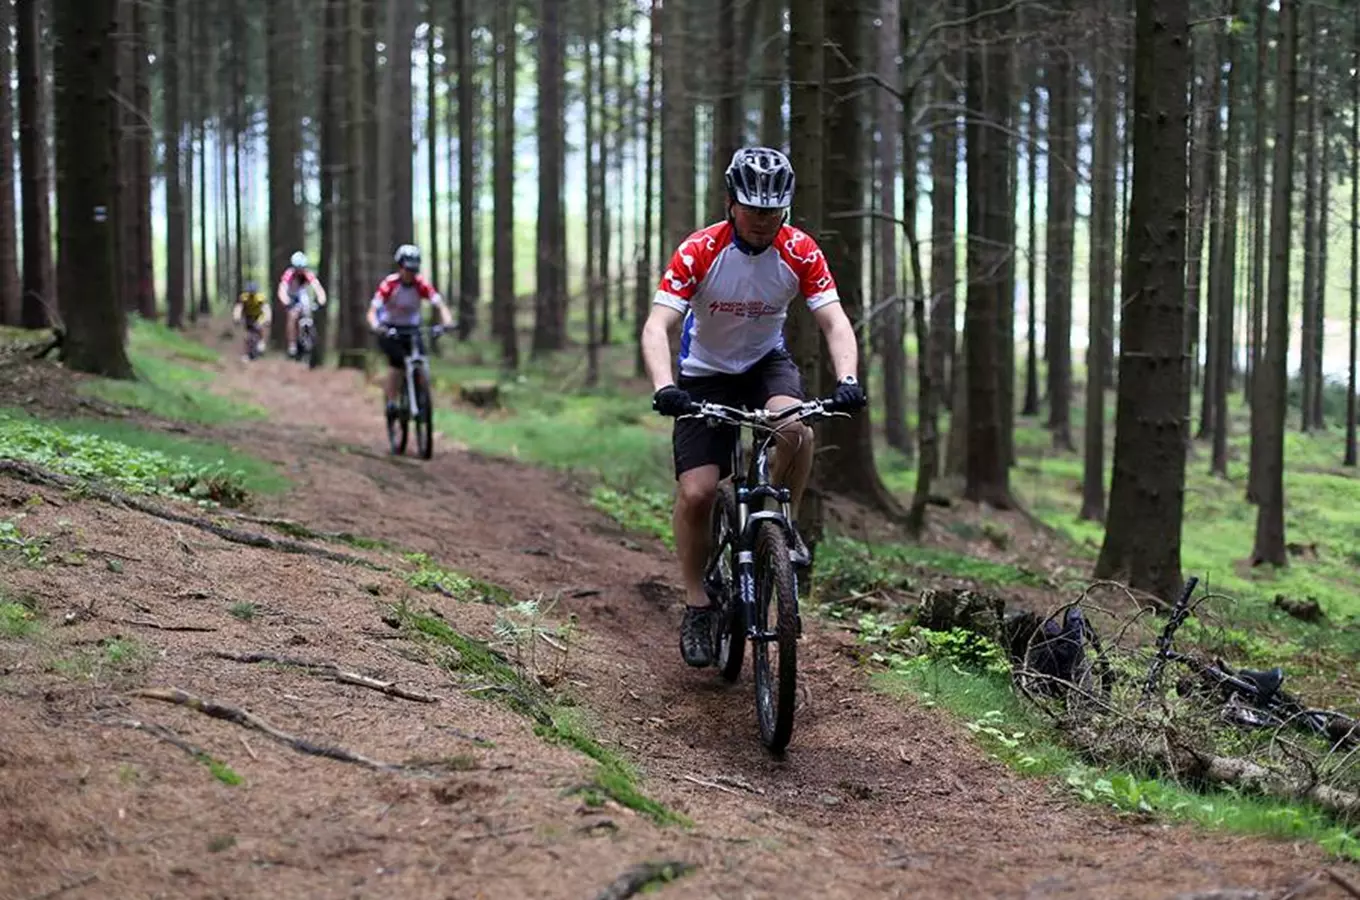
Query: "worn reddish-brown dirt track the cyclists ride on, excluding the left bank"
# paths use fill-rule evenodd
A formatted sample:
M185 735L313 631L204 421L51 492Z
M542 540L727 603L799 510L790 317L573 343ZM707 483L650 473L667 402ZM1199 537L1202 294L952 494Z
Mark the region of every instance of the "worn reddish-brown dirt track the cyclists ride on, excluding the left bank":
M271 411L237 438L290 461L288 515L428 551L520 595L560 594L585 632L574 692L647 790L702 832L772 835L806 896L1170 897L1282 888L1321 862L1308 846L1115 818L1016 778L945 716L869 689L815 621L793 742L771 759L749 668L724 687L679 659L670 556L626 540L566 477L466 453L447 434L426 464L386 460L378 394L356 373L267 360L222 382ZM320 449L329 442L371 453Z

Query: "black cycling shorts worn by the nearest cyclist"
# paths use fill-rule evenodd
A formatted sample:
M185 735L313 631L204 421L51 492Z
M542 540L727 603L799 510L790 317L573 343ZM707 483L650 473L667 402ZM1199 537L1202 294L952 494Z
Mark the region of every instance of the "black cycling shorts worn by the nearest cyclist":
M802 374L787 351L775 349L759 363L737 375L681 375L676 382L695 400L759 409L771 397L804 400ZM738 431L733 426L710 426L703 419L680 419L675 424L670 446L675 453L676 477L704 465L718 466L718 477L732 474L732 451Z

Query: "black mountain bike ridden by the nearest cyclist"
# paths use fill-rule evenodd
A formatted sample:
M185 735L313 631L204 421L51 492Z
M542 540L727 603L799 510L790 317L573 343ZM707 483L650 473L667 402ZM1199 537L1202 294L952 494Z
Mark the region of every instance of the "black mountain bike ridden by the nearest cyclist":
M692 409L679 417L706 419L714 427L734 426L752 432L749 451L738 435L732 451L732 477L718 485L704 583L717 598L718 670L725 681L736 681L745 642L751 642L760 741L781 753L793 735L802 620L798 576L789 557L794 544L792 494L770 480L770 449L779 431L793 423L830 416L849 419L850 413L838 411L830 398L774 412L706 401L695 402ZM778 508L766 510L767 500Z

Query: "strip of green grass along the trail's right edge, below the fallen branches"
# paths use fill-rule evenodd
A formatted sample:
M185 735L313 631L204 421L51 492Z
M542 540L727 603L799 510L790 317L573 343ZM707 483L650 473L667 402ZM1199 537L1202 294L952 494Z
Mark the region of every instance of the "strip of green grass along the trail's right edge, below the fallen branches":
M1322 810L1304 803L1246 795L1227 789L1191 790L1146 774L1092 765L1065 748L1039 714L1023 706L1006 676L968 672L948 659L898 659L874 676L877 688L910 693L948 710L991 755L1019 772L1049 776L1087 802L1123 813L1244 835L1311 840L1346 859L1360 859L1360 839Z

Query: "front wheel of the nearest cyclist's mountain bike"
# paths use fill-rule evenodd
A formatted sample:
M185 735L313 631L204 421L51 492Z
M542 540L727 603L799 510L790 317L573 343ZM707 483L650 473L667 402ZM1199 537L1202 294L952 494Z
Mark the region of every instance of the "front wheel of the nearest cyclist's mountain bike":
M756 532L756 624L772 632L758 640L752 668L760 741L779 753L793 737L793 706L798 691L798 593L789 561L789 540L774 522ZM774 661L770 659L774 654Z

